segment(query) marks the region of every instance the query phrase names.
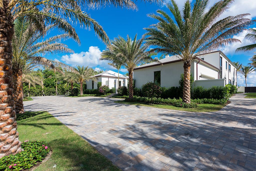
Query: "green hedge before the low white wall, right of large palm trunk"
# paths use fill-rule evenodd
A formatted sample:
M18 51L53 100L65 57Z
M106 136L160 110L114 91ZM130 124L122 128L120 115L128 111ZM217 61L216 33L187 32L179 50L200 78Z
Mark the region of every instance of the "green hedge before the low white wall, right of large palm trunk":
M195 87L193 90L193 99L226 99L230 97L230 88L224 86L213 86L211 88L204 88L201 86Z

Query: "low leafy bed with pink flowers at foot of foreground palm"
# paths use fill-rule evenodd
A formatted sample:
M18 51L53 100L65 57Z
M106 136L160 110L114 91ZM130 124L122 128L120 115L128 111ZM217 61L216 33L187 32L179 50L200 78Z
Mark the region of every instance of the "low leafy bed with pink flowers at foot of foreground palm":
M0 171L30 169L37 162L41 162L49 153L49 147L44 141L26 140L21 144L21 147L24 151L0 159Z

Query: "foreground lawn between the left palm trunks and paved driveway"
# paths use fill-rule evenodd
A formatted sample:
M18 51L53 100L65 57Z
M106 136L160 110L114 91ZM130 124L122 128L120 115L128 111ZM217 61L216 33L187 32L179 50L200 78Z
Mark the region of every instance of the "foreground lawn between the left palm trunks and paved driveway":
M52 149L49 160L35 170L120 170L51 114L39 113L18 121L20 141L43 140Z

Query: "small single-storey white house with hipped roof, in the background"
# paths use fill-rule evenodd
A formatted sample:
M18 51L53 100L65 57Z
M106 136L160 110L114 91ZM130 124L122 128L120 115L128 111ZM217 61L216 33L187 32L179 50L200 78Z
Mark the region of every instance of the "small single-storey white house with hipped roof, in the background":
M118 73L111 70L94 75L93 77L96 77L96 81L93 81L93 80L86 81L87 89L97 89L97 82L102 82L102 86L103 85L109 86L110 89L113 87L115 89L118 89L118 87L120 86L127 87L128 77L123 74L119 74L119 82L118 82Z

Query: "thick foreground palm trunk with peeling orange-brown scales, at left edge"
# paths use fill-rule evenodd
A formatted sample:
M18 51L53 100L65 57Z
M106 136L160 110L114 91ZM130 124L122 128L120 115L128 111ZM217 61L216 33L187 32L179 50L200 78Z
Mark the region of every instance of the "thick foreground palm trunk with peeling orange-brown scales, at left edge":
M13 17L6 16L9 1L2 1L0 8L0 158L21 152L17 130L12 80Z

